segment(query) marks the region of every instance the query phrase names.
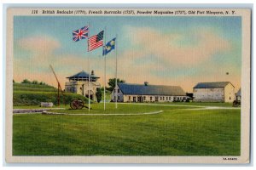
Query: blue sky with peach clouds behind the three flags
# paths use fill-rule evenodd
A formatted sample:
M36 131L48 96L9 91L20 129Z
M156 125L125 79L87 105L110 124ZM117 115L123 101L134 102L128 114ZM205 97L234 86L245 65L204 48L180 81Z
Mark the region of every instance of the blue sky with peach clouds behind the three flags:
M106 75L129 83L181 86L198 82L241 86L241 17L212 16L15 16L14 80L43 81L56 87L49 65L65 87L66 77L93 70L104 84L102 48L87 52L87 39L72 32L90 25L90 36L104 30L116 38L106 56ZM228 75L226 73L229 73Z

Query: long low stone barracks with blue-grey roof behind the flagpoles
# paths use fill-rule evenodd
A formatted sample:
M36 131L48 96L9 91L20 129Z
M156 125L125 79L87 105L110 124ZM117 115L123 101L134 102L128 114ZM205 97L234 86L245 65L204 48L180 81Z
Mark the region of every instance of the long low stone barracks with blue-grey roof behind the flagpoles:
M115 94L117 93L117 94ZM111 100L118 102L172 102L184 101L188 97L179 86L118 83L111 94Z

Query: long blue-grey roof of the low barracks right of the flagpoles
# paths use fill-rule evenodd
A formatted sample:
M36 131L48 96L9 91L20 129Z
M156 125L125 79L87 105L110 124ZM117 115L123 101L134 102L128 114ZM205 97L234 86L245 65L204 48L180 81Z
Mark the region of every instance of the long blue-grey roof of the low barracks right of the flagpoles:
M137 95L172 95L185 96L183 88L179 86L162 86L162 85L147 85L144 84L129 84L118 83L118 86L123 94Z

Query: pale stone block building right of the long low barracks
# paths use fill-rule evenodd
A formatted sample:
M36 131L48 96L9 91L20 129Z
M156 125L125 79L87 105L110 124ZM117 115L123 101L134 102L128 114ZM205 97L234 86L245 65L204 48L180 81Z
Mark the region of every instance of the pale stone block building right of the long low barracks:
M235 87L231 82L199 82L193 94L196 102L233 102Z

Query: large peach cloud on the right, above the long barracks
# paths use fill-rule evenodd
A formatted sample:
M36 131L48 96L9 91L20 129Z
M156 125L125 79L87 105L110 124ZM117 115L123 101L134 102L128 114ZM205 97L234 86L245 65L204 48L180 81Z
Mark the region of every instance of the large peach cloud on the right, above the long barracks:
M148 27L127 26L131 44L144 55L155 55L161 64L172 66L198 65L213 54L230 50L230 42L211 29L187 29L186 32L156 31ZM137 56L140 58L142 56Z

